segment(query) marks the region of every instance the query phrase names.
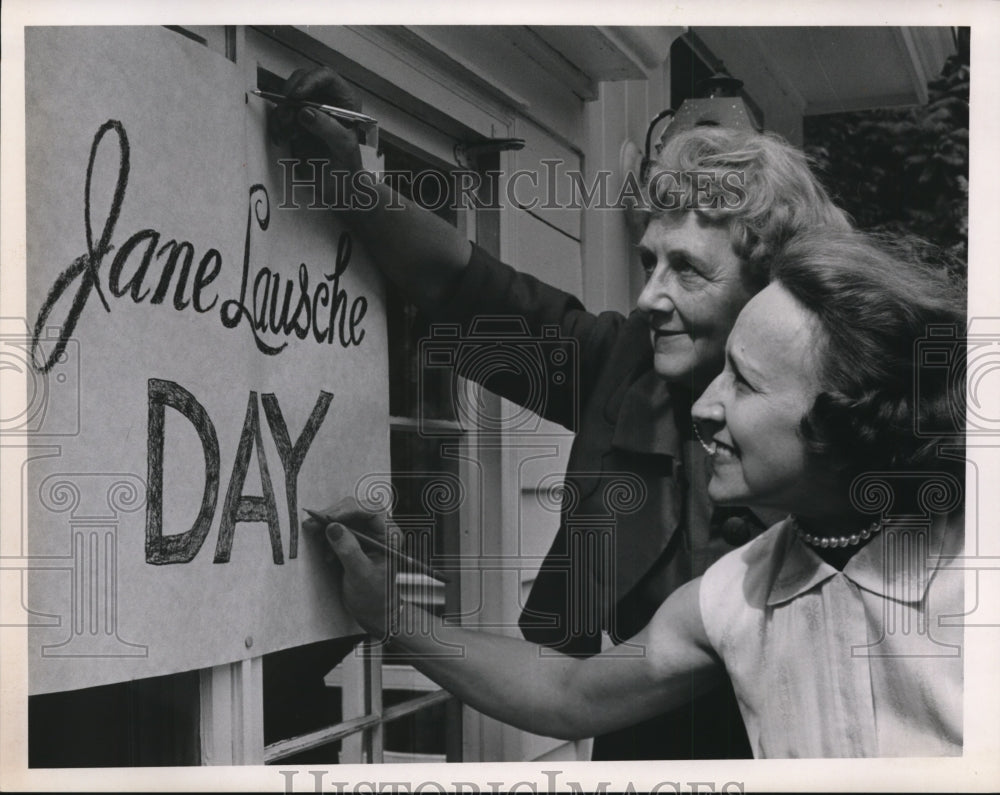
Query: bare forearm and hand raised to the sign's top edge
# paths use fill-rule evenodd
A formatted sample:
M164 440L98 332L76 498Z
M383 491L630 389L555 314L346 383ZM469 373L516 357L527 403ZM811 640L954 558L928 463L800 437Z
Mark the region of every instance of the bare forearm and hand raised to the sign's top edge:
M284 93L290 98L359 109L351 88L326 68L296 71L286 81ZM448 295L456 276L469 261L472 244L448 222L394 195L388 185L376 185L374 179L366 177L353 130L323 113L296 112L287 107L272 113L269 126L272 139L290 140L296 156L326 160L333 170L351 175L346 181L348 187L357 184L352 180L366 180L368 189L363 195L349 191L341 197L345 206L338 212L344 214L387 278L424 306ZM331 187L325 195L337 193ZM352 203L357 205L353 209Z

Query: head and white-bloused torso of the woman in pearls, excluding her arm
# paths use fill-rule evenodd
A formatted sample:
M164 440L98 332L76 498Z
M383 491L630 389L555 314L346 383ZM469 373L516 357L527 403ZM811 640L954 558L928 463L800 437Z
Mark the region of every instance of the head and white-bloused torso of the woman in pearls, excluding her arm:
M893 248L794 239L693 409L709 496L791 514L700 585L757 756L961 753L965 293Z

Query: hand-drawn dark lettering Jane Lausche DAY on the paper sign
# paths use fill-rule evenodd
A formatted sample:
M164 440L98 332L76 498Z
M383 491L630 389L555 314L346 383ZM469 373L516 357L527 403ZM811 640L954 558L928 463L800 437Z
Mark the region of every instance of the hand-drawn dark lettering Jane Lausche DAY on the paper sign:
M105 142L109 143L105 143ZM118 147L118 172L110 201L93 195L94 165L102 146ZM111 162L114 162L112 159ZM315 279L302 263L296 279L285 279L268 267L251 264L251 239L254 232L264 232L270 223L270 201L264 185L250 187L247 208L243 263L237 297L221 300L215 280L222 273L223 257L215 248L205 251L197 266L195 248L185 240L164 237L155 229L141 229L115 246L113 238L121 215L128 187L130 163L129 138L121 122L109 120L101 125L94 137L87 163L84 189L84 224L87 251L77 257L55 279L38 313L31 341L31 361L35 370L47 373L61 360L68 341L74 337L84 310L97 295L105 312L111 313L112 299L131 298L134 304L163 304L172 292L172 304L178 312L192 311L204 315L218 312L226 329L236 329L244 322L253 335L257 349L267 356L284 350L291 338L315 343L339 344L343 348L359 346L365 337L362 321L368 309L365 296L348 296L341 279L351 259L351 238L340 235L332 271ZM104 201L102 202L102 199ZM95 238L92 208L109 207L99 237ZM107 268L106 283L102 283L105 262L114 252ZM158 277L155 270L159 269ZM192 268L194 272L192 274ZM69 301L65 319L58 326L58 342L51 345L50 317L64 298ZM71 300L70 300L71 299ZM218 307L218 309L216 309ZM55 325L55 324L51 324ZM284 339L282 339L284 338ZM315 344L314 343L314 344ZM201 385L204 388L204 385ZM150 377L147 381L147 464L148 494L146 512L146 562L153 565L187 563L202 548L210 526L216 518L220 491L221 467L219 441L215 423L193 392L165 379ZM234 526L239 522L262 522L267 525L275 564L284 563L278 509L267 460L264 456L258 399L263 405L267 424L277 447L285 481L285 497L289 521L288 557L298 554L297 481L299 470L316 437L333 395L320 391L313 411L293 442L286 426L278 399L273 394L250 390L243 429L236 451L232 476L219 512L219 537L213 561L227 563L233 543ZM197 432L205 459L204 490L200 509L190 529L178 532L166 527L164 511L164 431L165 408L170 407L185 418ZM256 448L263 496L243 493L244 480ZM196 501L197 502L197 501Z

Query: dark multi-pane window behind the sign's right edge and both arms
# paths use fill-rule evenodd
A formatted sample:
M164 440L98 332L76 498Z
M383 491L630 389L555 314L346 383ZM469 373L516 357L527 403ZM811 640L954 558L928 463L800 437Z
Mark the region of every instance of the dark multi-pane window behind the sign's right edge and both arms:
M389 171L420 174L445 167L393 145L384 135L382 154ZM449 182L419 184L436 190ZM405 180L398 186L412 198L410 188ZM426 194L422 198L442 204L437 214L450 223L464 223L465 211L454 209L453 197L446 202ZM425 562L454 559L460 554L460 460L467 453L456 419L451 372L423 367L421 341L427 339L429 326L391 286L386 315L390 454L396 495L393 517L407 554ZM459 577L450 579L444 584L402 572L398 584L404 599L440 616L459 612ZM265 761L461 761L461 705L405 657L387 655L377 643L363 641L334 665L345 646L357 640L340 639L265 656ZM317 725L324 718L327 725Z

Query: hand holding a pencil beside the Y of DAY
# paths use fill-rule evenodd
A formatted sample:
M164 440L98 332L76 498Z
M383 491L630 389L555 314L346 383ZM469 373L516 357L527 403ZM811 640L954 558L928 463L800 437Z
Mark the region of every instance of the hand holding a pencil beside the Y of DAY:
M338 522L327 525L325 533L342 569L341 602L368 634L388 638L398 624L399 598L388 582L384 557L366 555L354 533Z

